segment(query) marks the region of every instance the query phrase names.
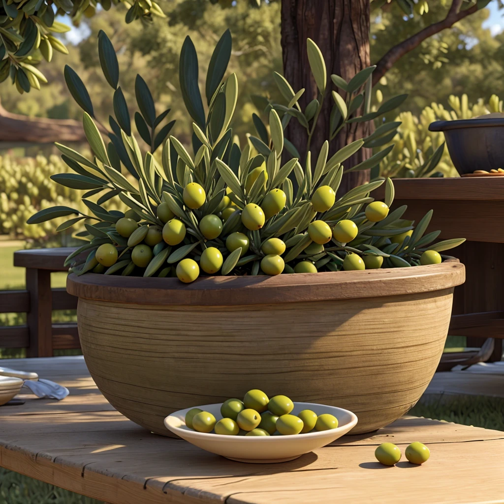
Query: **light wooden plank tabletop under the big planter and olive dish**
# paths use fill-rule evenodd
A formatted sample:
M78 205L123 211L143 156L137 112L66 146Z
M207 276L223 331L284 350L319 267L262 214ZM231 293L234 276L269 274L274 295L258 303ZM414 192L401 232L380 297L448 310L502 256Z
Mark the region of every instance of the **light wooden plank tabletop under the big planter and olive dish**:
M3 361L4 363L4 361ZM407 417L282 464L242 464L150 434L116 412L82 357L6 361L71 391L0 408L0 466L112 504L504 502L504 432ZM33 397L33 396L32 396ZM383 442L429 445L423 466L377 463Z

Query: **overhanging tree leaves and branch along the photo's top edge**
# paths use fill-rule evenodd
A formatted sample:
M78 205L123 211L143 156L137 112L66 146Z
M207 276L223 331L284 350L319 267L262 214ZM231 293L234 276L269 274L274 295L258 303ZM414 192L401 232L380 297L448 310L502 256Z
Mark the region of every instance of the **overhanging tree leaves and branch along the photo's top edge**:
M159 0L158 0L159 1ZM429 5L441 3L449 8L445 19L432 23L423 33L415 34L390 49L378 64L374 73L377 82L399 59L414 49L421 40L438 31L448 28L467 15L476 12L491 0L370 0L371 12L388 10L398 6L404 12L405 20L414 16L423 16L429 11ZM501 0L493 0L501 4ZM45 59L50 61L54 51L68 54L68 49L59 36L70 27L57 20L58 16L68 15L74 25L83 17L92 17L96 12L108 11L113 5L127 8L125 22L140 22L149 27L155 17L170 17L186 8L197 9L204 16L206 6L214 4L215 9L236 9L246 5L250 9L262 8L279 0L164 0L159 4L154 0L2 0L0 3L0 82L9 77L19 93L29 92L32 88L40 89L41 83L47 83L37 64ZM177 13L178 11L178 13ZM193 12L194 14L194 12ZM101 15L101 14L98 14ZM195 18L195 16L192 16ZM198 18L198 16L196 16ZM232 27L234 30L234 27Z

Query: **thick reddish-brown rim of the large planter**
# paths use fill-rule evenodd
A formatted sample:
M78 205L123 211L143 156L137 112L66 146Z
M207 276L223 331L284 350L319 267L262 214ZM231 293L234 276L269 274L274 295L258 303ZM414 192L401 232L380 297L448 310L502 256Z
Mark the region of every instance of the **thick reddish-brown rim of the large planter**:
M299 273L277 276L200 277L191 284L176 278L69 275L67 290L84 299L145 305L250 305L357 299L432 292L464 282L457 260L414 268Z

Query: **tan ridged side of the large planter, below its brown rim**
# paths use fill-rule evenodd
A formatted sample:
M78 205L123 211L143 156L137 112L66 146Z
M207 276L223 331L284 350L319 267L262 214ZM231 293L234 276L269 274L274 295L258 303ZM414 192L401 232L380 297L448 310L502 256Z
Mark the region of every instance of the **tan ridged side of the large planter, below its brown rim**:
M355 412L370 432L408 411L443 351L453 287L402 296L229 306L81 298L79 335L98 388L168 434L173 411L251 388ZM151 298L151 302L156 302Z

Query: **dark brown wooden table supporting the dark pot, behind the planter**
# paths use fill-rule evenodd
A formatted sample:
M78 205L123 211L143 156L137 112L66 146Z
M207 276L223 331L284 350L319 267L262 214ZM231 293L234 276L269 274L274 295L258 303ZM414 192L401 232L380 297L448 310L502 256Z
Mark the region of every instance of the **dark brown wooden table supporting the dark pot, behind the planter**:
M467 346L496 338L490 360L500 360L504 338L504 177L394 179L393 208L407 205L416 223L433 210L426 232L439 240L466 238L445 254L466 267L466 282L454 293L450 333L467 336ZM373 196L375 194L375 196ZM384 185L373 197L383 198Z

